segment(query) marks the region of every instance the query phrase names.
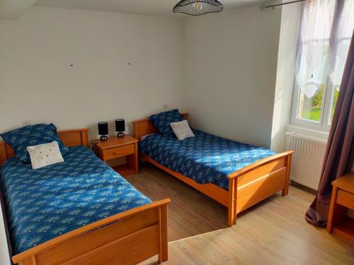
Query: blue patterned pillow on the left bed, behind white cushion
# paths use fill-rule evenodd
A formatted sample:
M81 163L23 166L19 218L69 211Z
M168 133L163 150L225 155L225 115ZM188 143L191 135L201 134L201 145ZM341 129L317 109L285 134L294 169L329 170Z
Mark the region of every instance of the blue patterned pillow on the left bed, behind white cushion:
M24 126L13 131L0 134L2 139L13 148L16 158L23 163L30 163L30 155L27 146L37 146L42 143L50 143L57 141L60 152L65 155L69 152L69 148L64 146L57 136L57 127L54 124L35 124Z

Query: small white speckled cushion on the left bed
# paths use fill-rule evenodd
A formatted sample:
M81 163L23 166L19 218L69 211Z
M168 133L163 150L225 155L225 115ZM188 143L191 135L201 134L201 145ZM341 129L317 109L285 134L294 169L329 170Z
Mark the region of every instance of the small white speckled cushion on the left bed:
M57 141L40 144L38 146L28 146L27 151L30 153L30 163L32 163L33 170L64 162Z

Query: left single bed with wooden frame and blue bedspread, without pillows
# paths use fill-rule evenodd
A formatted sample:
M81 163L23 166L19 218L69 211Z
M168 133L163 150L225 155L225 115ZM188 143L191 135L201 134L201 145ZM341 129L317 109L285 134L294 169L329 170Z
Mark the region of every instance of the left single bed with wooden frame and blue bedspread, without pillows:
M58 132L64 163L32 170L0 142L12 260L18 264L136 264L167 259L167 204L152 203L87 147L87 130Z

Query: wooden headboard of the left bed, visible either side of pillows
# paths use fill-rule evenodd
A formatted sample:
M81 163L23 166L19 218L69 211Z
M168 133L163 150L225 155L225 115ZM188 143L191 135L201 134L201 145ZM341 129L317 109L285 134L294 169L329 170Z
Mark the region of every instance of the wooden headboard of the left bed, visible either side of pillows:
M58 131L59 139L65 146L86 146L89 147L89 137L87 132L89 129L73 129L66 131ZM4 141L0 141L0 167L8 158L13 158L13 149Z

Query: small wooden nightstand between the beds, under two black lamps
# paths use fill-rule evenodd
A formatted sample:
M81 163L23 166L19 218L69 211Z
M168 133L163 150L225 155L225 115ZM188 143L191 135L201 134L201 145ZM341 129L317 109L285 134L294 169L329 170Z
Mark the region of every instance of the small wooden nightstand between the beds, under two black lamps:
M126 164L113 167L113 169L120 175L127 176L137 174L139 172L138 153L137 153L138 140L132 136L125 135L124 138L117 136L108 137L108 141L93 140L93 151L98 158L104 162L110 159L126 157Z

